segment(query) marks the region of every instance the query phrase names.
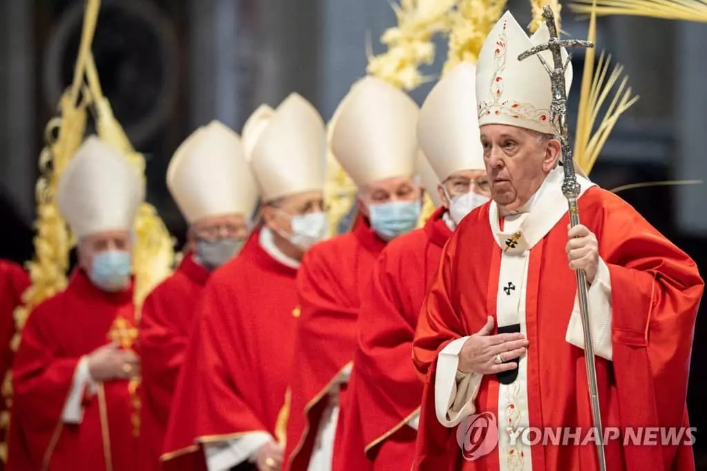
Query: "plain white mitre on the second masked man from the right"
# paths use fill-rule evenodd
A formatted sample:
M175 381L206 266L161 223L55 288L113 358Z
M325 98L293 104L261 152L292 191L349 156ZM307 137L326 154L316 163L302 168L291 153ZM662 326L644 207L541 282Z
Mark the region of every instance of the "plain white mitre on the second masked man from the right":
M418 115L414 100L385 81L367 76L354 84L334 114L330 145L356 186L413 175Z

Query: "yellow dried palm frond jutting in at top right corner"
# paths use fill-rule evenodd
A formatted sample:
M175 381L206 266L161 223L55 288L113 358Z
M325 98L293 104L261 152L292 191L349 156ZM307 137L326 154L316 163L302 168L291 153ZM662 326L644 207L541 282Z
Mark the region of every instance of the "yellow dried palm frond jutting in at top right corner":
M591 13L592 0L575 0L570 9ZM623 15L707 22L707 0L597 0L597 16Z

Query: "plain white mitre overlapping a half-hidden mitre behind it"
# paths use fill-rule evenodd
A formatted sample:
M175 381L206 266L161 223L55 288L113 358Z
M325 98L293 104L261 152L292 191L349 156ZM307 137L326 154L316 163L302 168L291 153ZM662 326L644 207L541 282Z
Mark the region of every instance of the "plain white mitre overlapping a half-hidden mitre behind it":
M262 130L251 156L264 201L324 191L327 132L319 112L292 93Z

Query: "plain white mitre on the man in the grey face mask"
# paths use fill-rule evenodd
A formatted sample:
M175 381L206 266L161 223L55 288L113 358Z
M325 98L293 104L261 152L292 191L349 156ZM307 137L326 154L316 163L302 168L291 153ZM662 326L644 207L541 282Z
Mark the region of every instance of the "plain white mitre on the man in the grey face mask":
M218 121L197 129L179 146L167 169L167 187L189 224L232 214L249 218L258 201L243 144Z

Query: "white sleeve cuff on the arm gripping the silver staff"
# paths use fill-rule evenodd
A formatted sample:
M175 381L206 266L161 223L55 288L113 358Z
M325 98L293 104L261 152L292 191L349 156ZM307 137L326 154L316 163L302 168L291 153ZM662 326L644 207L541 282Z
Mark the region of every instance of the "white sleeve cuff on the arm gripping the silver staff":
M587 304L594 354L612 361L612 280L609 267L601 258L594 282L587 290ZM575 294L575 303L565 339L575 347L584 349L584 330L578 294Z

